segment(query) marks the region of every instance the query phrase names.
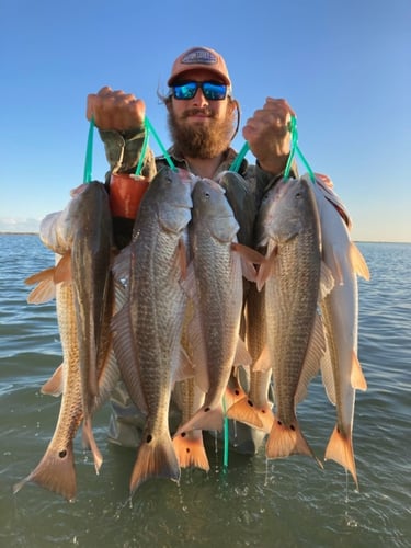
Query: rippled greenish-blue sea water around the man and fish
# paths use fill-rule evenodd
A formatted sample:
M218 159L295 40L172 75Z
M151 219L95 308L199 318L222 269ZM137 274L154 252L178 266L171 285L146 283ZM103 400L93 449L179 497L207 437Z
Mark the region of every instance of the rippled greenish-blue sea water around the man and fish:
M37 236L0 235L0 546L45 547L411 547L411 244L358 243L372 279L359 281L354 449L359 491L332 461L267 461L209 443L210 471L183 470L179 484L146 482L128 496L136 452L106 441L110 408L94 420L104 463L96 476L76 438L78 494L38 486L13 494L43 456L59 400L39 392L61 362L54 301L26 304L28 275L50 266ZM335 414L320 379L298 416L323 455Z

